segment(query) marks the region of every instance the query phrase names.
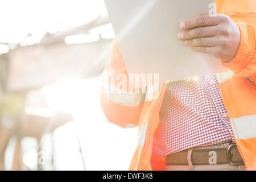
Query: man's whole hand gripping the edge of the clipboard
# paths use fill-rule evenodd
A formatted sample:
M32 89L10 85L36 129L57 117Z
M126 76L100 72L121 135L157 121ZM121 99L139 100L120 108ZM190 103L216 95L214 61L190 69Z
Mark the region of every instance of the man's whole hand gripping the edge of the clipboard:
M240 46L241 32L229 16L200 15L180 23L177 38L183 46L203 52L223 61L231 61Z

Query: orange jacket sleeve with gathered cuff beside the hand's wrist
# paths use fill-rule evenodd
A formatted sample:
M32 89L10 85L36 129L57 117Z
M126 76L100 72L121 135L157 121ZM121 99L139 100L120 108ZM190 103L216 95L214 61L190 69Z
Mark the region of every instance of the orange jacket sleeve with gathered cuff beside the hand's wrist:
M238 22L237 26L241 31L241 42L237 55L228 63L222 61L222 64L231 69L235 76L250 78L256 83L256 29L253 24L242 22Z

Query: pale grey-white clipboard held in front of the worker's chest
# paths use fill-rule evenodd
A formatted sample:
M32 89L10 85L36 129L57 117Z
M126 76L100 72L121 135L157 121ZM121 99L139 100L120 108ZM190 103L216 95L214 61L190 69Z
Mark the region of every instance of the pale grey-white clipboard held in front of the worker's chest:
M227 71L213 56L181 46L179 22L208 13L213 0L105 0L129 73L159 73L159 83Z

